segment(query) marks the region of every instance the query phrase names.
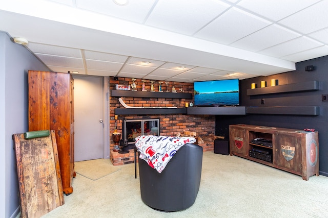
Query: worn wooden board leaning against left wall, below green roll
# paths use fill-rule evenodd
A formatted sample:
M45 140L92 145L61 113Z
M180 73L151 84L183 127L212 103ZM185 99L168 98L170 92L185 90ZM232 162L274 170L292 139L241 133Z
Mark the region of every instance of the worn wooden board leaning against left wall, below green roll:
M41 217L64 204L55 132L25 139L14 134L22 217Z

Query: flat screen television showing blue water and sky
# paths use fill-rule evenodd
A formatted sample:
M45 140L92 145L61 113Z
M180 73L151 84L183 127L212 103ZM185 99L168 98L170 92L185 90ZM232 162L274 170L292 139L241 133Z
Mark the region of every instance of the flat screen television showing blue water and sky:
M239 105L239 79L194 82L194 105Z

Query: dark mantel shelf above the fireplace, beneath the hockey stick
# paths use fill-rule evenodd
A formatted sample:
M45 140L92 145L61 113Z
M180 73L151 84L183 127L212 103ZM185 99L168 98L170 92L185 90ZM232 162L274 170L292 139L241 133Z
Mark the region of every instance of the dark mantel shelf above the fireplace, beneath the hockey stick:
M116 108L117 115L187 114L187 108Z

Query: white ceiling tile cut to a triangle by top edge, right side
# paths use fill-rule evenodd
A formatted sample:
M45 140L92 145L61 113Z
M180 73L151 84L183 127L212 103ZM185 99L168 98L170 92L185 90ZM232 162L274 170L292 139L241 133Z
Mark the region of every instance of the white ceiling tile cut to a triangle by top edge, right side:
M263 17L278 21L290 14L302 10L320 0L242 0L237 5L253 11Z

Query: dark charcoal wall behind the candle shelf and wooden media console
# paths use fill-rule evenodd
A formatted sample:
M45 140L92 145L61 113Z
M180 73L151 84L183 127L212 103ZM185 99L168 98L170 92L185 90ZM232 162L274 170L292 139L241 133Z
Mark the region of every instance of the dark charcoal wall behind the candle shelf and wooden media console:
M305 67L309 65L314 66L313 71L305 71ZM247 95L247 89L251 88L251 83L256 83L257 87L260 87L261 81L264 80L270 86L271 79L279 80L279 85L319 81L319 90ZM298 62L295 71L240 80L239 83L241 106L319 106L319 115L246 114L244 116L216 116L215 133L227 135L229 125L232 124L292 129L313 128L319 132L319 171L321 175L328 176L328 159L326 158L328 155L328 102L321 100L322 94L328 94L328 56ZM264 99L264 105L261 105L261 99Z

